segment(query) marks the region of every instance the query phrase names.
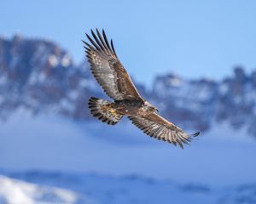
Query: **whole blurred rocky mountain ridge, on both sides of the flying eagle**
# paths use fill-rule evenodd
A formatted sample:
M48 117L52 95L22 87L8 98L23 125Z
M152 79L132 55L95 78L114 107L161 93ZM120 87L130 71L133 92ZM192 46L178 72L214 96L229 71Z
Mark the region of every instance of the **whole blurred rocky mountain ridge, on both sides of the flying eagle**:
M225 122L256 136L256 71L246 74L236 67L233 76L219 82L166 74L155 77L149 91L141 84L137 87L181 127L207 131L212 124ZM106 98L86 60L74 65L67 51L54 42L20 36L0 38L0 93L3 121L20 107L34 115L49 112L93 120L87 99L91 95Z

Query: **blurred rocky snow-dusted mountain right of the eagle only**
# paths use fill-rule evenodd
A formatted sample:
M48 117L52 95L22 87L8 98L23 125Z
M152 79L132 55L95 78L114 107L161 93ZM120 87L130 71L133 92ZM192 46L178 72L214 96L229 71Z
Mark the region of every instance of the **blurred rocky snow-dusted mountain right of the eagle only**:
M163 101L166 116L184 127L209 130L213 123L226 122L256 136L256 71L247 75L236 67L232 77L220 82L156 77L153 93Z

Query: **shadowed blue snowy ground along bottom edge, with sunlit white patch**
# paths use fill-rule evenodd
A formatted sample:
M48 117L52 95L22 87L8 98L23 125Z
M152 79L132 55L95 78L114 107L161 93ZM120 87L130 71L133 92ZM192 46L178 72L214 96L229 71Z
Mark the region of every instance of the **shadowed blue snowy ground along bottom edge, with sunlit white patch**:
M0 176L0 203L3 204L167 204L170 202L253 204L256 202L255 184L217 188L205 184L177 184L136 175L112 177L92 173L65 174L36 171L9 173L9 176L11 178ZM55 187L52 186L53 184Z

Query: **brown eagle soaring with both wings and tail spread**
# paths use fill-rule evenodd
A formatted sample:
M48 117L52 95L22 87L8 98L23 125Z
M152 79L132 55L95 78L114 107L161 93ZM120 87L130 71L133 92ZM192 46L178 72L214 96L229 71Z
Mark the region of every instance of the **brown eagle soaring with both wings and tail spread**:
M113 46L113 40L108 42L104 29L100 32L90 30L85 33L85 54L90 63L90 71L103 91L113 99L98 99L90 97L88 105L90 113L108 125L117 124L123 116L127 116L132 124L152 138L160 139L170 144L190 144L200 132L188 134L182 128L160 116L156 107L151 105L139 94L131 77L119 60Z

